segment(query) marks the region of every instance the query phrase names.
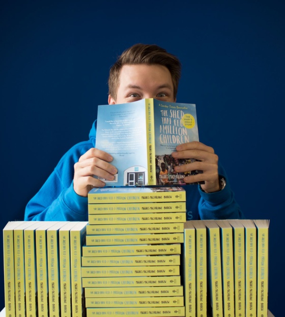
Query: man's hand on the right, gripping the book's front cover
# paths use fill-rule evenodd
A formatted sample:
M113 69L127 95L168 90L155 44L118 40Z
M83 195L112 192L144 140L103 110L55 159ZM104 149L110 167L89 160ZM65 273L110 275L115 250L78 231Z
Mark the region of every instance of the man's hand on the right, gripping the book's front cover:
M197 141L184 143L176 147L176 152L173 152L172 156L174 158L195 158L195 160L201 161L175 167L177 172L203 171L202 174L186 176L184 178L186 183L204 180L205 184L201 187L206 193L217 192L220 189L218 155L215 154L212 147Z

